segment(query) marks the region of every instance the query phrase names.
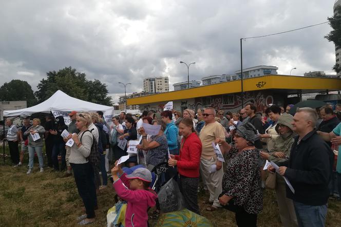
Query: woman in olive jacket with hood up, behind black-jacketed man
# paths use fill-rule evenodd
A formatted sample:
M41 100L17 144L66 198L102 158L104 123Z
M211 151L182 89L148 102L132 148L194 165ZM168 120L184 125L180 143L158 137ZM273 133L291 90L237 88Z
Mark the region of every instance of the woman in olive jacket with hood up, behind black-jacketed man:
M274 141L274 149L271 153L260 152L260 156L268 161L273 161L277 165L285 162L290 157L291 146L294 143L295 133L293 132L293 116L284 113L277 122L276 131L279 136ZM297 226L297 218L293 201L287 198L286 182L276 174L276 199L279 209L280 220L285 227Z

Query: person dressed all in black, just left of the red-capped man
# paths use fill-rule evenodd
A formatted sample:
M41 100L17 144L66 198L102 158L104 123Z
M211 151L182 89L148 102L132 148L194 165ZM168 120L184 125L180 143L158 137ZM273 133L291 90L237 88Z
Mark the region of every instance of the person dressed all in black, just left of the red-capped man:
M59 170L64 171L66 167L66 161L65 161L66 149L65 149L65 141L63 140L63 137L61 135L65 129L67 130L67 125L64 122L63 116L56 117L55 121L56 121L55 129L49 130L50 134L55 135L53 137L52 163L56 171L59 171ZM59 163L58 163L59 155L62 156L62 166L59 166Z

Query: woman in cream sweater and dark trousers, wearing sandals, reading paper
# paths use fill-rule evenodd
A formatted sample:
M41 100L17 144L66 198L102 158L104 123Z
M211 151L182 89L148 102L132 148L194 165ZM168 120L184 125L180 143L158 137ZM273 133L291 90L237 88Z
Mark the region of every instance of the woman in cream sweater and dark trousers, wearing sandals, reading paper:
M92 123L90 115L87 113L77 114L76 127L80 133L69 135L68 139L73 139L74 143L70 150L69 163L73 169L74 181L77 185L78 193L81 196L85 213L78 217L78 224L86 225L94 221L94 210L97 206L96 188L94 185L94 174L88 157L91 152L92 142L94 140L92 134L88 130L88 126Z

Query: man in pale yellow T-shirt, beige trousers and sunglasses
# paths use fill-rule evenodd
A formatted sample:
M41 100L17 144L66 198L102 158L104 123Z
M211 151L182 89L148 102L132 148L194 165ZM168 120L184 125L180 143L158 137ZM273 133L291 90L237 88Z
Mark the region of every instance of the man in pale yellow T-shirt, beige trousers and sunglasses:
M205 203L212 205L207 207L206 211L215 211L218 207L221 207L218 197L222 192L222 176L224 172L222 162L217 160L212 143L216 139L225 141L225 130L220 123L215 121L216 111L214 108L205 108L202 116L204 117L205 125L199 134L202 143L200 175L210 192L210 198ZM216 165L214 170L212 170L213 165Z

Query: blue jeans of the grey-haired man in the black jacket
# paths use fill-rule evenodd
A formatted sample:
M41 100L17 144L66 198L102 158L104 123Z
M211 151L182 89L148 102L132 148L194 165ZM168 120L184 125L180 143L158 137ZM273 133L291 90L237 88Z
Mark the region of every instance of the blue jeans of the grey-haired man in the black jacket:
M323 227L326 223L327 204L320 206L294 202L299 227Z

